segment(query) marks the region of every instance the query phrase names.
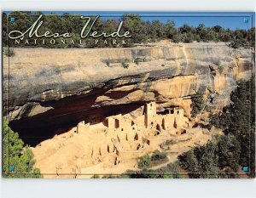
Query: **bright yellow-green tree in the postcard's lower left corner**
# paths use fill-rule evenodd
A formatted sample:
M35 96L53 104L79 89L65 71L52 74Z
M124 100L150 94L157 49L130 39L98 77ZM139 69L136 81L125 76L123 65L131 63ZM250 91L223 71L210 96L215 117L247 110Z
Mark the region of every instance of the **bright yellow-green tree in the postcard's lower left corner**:
M24 147L19 134L13 132L6 119L3 119L3 177L42 178L34 164L32 150ZM9 167L15 167L15 171L11 172Z

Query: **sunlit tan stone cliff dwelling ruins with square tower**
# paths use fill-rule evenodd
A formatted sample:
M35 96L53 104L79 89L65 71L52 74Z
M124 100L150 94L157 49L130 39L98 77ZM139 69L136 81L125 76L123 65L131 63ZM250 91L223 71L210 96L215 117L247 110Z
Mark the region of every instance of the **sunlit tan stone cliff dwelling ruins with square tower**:
M201 140L197 138L196 141L199 142L206 143L210 139L209 133L204 133L202 128L192 127L182 108L163 108L155 102L125 115L108 116L103 122L99 120L102 118L85 118L67 133L55 135L33 148L42 173L55 169L55 177L59 178L67 173L73 173L72 177L101 171L117 174L118 167L137 169L137 158L154 150L178 154L189 149L190 144L195 145L198 136ZM190 143L177 147L167 144L168 141ZM120 173L125 172L123 168Z

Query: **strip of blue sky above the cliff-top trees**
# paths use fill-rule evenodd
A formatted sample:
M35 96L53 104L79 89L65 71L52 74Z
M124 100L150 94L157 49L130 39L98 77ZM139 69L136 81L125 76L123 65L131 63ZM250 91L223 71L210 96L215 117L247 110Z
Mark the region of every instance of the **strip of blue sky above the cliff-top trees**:
M9 13L9 12L7 12ZM183 24L197 26L201 23L206 26L221 25L224 28L236 29L249 29L255 26L255 14L253 12L61 12L50 11L43 12L44 14L78 14L78 15L100 15L103 20L112 18L119 19L123 14L140 14L143 20L160 20L167 22L173 20L176 26L179 27Z

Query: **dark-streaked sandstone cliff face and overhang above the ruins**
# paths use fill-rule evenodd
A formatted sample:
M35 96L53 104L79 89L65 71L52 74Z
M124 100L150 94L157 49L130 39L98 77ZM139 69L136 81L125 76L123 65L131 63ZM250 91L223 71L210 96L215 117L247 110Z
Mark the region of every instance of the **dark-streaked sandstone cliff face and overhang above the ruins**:
M45 139L53 135L47 131L58 133L84 117L101 120L149 101L182 107L190 116L190 98L197 93L214 96L207 110L221 110L253 65L251 49L224 43L15 48L14 57L3 57L3 114L21 136Z

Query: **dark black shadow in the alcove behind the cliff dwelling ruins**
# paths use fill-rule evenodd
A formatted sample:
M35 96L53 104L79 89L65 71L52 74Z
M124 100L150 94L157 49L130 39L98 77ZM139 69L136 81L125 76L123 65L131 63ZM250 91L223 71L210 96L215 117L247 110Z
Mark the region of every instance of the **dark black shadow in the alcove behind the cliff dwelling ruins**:
M49 112L39 114L38 116L10 122L9 126L19 133L20 139L25 144L36 146L45 139L53 138L55 134L66 133L81 121L91 122L90 119L94 118L91 124L96 124L102 122L106 116L129 113L141 105L144 104L108 105L88 110L81 104L78 109L74 108L73 103L67 103L58 108L55 106L54 110L49 110ZM68 112L65 112L65 110L68 110Z

